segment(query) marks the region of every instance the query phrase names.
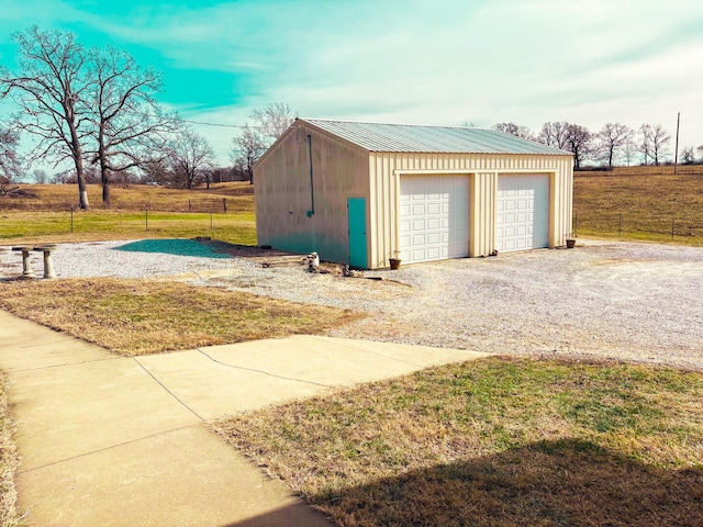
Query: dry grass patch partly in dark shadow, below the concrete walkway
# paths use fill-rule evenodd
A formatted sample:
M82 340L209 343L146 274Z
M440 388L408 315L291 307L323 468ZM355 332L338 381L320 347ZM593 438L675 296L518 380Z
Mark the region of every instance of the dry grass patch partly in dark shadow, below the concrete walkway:
M339 525L703 525L703 375L491 358L215 425Z

